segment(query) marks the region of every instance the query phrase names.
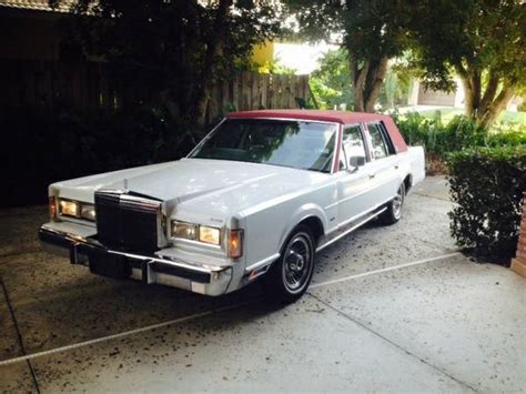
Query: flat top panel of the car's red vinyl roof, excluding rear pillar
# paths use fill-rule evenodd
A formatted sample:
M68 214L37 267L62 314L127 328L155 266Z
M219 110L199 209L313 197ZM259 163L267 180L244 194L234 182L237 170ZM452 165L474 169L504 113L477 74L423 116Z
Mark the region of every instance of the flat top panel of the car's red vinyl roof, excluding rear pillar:
M231 112L227 118L284 118L318 120L343 124L362 123L391 119L378 113L348 112L348 111L321 111L321 110L259 110Z

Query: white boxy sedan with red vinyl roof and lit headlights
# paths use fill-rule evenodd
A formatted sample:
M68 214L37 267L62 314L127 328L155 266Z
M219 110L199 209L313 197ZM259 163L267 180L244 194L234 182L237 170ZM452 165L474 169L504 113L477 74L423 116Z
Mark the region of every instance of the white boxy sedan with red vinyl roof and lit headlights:
M226 117L184 159L53 183L44 245L94 274L220 295L264 275L292 302L315 253L401 219L425 176L386 115L269 110Z

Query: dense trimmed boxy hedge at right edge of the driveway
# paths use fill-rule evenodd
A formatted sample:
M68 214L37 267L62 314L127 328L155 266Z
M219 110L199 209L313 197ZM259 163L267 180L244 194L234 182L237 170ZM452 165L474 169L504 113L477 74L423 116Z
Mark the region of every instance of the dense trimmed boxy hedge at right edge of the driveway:
M512 257L526 191L526 145L463 150L451 153L446 165L457 244L478 255Z

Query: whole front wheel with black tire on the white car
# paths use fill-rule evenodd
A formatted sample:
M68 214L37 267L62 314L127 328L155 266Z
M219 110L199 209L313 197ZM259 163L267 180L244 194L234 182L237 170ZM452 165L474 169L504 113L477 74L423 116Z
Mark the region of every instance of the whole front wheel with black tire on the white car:
M308 287L314 272L316 243L306 225L299 225L287 238L281 256L265 275L265 296L281 303L292 303Z

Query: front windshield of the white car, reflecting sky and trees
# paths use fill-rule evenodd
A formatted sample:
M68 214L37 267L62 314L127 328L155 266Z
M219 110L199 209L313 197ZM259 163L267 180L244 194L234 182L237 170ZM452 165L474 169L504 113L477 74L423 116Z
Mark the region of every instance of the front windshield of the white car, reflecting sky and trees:
M331 172L335 138L335 124L230 119L209 135L190 158Z

